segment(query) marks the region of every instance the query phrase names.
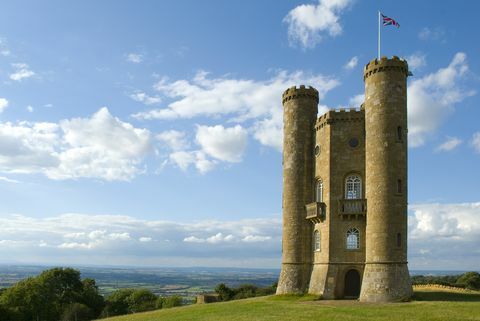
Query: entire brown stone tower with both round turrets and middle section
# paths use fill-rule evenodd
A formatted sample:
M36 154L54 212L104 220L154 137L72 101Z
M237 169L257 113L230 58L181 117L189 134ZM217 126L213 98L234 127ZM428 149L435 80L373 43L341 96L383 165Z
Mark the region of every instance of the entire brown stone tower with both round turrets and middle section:
M283 243L277 294L408 299L406 61L372 60L365 103L317 118L318 92L283 94Z

